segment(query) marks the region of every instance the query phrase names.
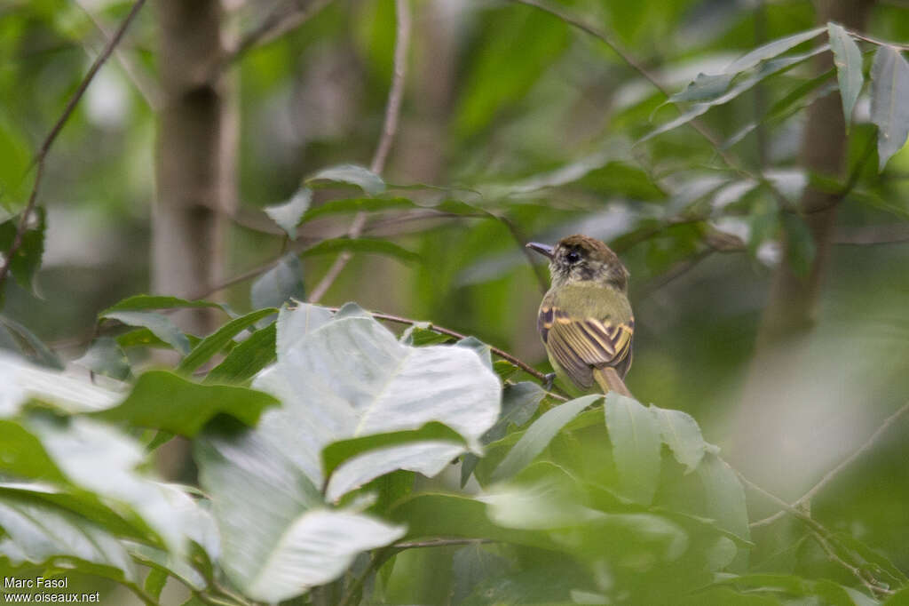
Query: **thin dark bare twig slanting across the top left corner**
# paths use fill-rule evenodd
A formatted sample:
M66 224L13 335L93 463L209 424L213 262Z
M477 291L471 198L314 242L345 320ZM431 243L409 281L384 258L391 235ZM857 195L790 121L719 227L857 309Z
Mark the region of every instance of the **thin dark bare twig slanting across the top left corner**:
M104 50L101 51L101 54L95 58L95 63L88 69L88 73L85 74L85 77L82 79L82 82L79 83L78 88L75 89L75 93L70 97L69 102L66 104L66 107L63 111L63 115L60 116L54 127L51 128L51 132L45 137L44 142L41 144L41 147L38 148L38 153L35 156L35 159L32 161L32 166L35 167L35 185L32 186L32 193L28 197L28 204L25 205L25 210L22 211L22 217L19 218L19 225L15 229L15 237L13 238L13 245L9 247L9 250L6 252L6 256L3 259L3 264L0 265L0 287L3 286L6 276L9 274L10 264L13 262L15 254L19 252L19 248L22 247L23 240L25 239L25 231L28 228L29 217L35 210L35 203L38 199L38 188L41 185L41 177L44 176L45 172L45 159L47 154L50 151L51 146L54 144L54 141L57 135L60 134L60 131L63 130L63 126L66 124L66 120L69 119L69 116L73 115L75 106L79 103L79 100L82 99L82 96L85 95L85 90L88 88L88 85L92 83L92 79L95 78L95 74L98 73L98 70L101 69L101 66L105 65L105 61L108 57L111 56L111 53L114 52L116 45L120 43L120 40L123 39L123 35L126 33L126 28L129 27L135 15L139 14L139 9L145 5L145 0L135 0L133 8L130 9L129 15L126 15L126 18L123 20L123 23L120 24L120 27L117 28L114 37L112 37L107 44L105 45Z

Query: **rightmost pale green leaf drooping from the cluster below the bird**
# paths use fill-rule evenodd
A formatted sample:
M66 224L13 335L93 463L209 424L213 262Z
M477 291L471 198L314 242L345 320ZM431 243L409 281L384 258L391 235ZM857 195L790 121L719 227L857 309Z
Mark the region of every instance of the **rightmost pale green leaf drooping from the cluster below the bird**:
M697 466L697 475L704 486L707 515L716 520L720 528L742 540L751 540L744 489L734 470L724 460L708 452Z

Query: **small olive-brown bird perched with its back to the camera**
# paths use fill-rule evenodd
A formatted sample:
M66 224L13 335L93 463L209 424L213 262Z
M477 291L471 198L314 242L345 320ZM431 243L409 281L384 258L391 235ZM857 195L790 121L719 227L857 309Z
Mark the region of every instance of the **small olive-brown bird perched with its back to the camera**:
M549 258L552 287L536 320L555 375L569 391L594 388L630 396L624 376L631 367L634 315L628 270L603 242L564 237L554 247L527 245Z

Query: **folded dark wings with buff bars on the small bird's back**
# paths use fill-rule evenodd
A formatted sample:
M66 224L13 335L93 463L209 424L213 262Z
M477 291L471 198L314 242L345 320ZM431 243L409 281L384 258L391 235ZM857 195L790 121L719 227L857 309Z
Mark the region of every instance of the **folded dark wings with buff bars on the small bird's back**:
M634 318L627 322L574 318L564 309L544 306L537 328L554 359L582 389L593 385L592 369L613 367L624 377L631 366Z

